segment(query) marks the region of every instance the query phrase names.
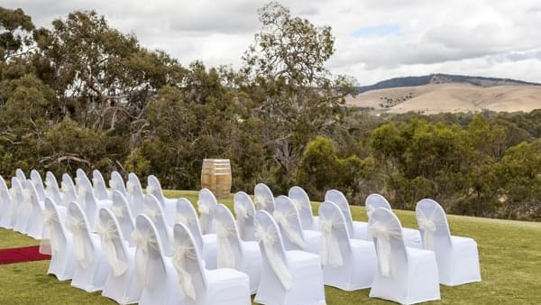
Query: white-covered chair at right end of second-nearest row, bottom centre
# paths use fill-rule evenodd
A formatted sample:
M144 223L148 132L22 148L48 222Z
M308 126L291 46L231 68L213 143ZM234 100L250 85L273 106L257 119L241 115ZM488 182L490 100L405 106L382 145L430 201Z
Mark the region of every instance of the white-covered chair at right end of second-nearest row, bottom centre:
M261 282L255 302L281 305L325 304L319 255L286 251L278 225L267 211L255 213L255 236L260 243Z

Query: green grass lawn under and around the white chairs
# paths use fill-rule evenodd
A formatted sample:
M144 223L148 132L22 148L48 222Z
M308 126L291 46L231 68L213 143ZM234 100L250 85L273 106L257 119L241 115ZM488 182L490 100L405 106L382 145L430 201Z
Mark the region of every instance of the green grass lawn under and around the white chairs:
M170 198L197 202L197 191L166 191ZM233 196L219 200L228 207ZM317 204L314 211L317 212ZM366 220L364 208L352 207L355 220ZM403 226L417 227L413 212L396 211ZM441 287L442 304L541 303L541 223L449 216L453 235L477 241L482 282ZM0 229L0 248L37 245L32 238ZM99 292L87 293L45 275L48 261L0 265L0 304L114 304ZM385 304L368 297L369 290L340 291L326 287L329 305ZM435 302L436 303L436 302Z

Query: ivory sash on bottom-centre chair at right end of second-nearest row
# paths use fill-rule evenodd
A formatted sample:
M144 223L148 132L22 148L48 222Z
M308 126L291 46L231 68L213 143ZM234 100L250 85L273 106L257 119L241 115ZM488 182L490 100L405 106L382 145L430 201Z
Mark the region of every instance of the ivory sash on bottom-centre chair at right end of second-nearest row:
M276 273L281 285L285 290L289 291L291 288L291 274L281 255L276 253L274 249L274 243L277 243L279 240L278 233L271 231L271 229L265 230L261 225L256 225L254 235L262 243L265 255L269 259L269 264L271 264L271 268Z

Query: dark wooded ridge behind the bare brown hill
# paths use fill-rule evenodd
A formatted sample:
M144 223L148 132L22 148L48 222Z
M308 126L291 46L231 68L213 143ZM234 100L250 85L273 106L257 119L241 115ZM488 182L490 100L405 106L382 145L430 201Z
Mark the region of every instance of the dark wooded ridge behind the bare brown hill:
M470 84L478 87L494 87L494 86L541 86L538 83L531 83L516 79L497 79L497 78L484 78L484 77L472 77L465 75L452 75L452 74L431 74L419 77L404 77L395 79L382 80L371 86L358 87L359 93L386 89L386 88L399 88L399 87L416 87L429 84Z

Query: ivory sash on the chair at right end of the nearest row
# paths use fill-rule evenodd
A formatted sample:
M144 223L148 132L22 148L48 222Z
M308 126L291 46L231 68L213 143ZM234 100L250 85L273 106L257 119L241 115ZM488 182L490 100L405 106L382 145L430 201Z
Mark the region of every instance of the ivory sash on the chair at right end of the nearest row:
M183 238L183 244L175 246L173 250L172 263L173 267L175 267L175 270L177 270L177 273L179 274L180 287L182 287L182 290L188 296L188 298L191 300L196 300L196 288L192 282L191 274L187 271L186 264L188 260L197 260L197 256L194 247L192 245L188 245L186 241L187 239Z

